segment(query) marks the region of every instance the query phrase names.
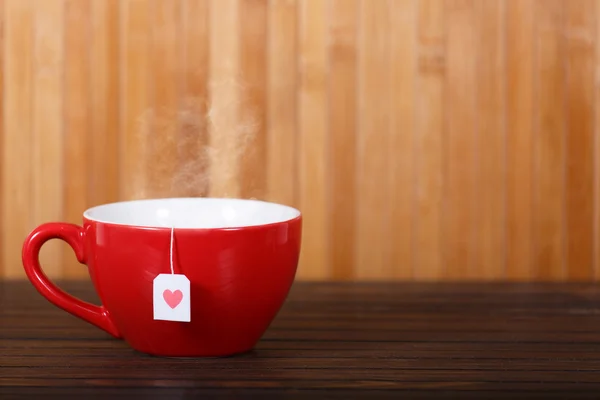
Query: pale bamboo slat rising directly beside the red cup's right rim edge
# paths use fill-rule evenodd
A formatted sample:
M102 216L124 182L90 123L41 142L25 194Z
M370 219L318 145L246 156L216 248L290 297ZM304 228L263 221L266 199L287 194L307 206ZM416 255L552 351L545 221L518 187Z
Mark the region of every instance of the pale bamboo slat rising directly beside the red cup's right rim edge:
M329 276L327 238L327 185L325 175L327 129L327 23L326 2L299 2L299 205L304 213L302 265L299 276Z

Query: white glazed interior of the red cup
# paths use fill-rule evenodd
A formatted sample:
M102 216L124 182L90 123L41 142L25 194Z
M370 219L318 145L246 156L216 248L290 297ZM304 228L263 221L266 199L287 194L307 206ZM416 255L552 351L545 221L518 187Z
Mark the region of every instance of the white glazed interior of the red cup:
M259 200L168 198L104 204L83 215L89 220L117 225L215 229L289 221L298 217L300 211Z

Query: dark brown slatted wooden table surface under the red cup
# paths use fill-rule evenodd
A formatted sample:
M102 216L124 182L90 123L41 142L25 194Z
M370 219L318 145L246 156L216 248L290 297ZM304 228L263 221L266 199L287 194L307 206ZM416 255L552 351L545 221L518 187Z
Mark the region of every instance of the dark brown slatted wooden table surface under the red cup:
M62 286L96 300L87 282ZM600 398L600 285L296 283L253 352L170 359L5 282L0 398L24 394Z

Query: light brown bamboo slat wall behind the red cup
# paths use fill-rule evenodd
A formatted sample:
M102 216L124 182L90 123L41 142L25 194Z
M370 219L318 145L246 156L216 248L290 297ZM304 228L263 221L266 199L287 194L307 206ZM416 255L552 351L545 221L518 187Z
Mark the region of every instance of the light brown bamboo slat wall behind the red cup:
M600 1L0 0L1 276L152 196L304 213L300 279L600 276ZM54 277L82 277L50 243Z

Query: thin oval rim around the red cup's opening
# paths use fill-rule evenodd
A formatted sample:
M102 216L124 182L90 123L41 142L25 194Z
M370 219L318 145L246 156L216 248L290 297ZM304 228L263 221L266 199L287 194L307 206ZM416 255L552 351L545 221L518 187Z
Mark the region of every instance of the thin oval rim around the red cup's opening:
M280 219L273 222L266 223L257 223L257 224L248 224L248 225L234 225L234 226L219 226L219 227L169 227L169 226L160 226L160 225L145 225L145 224L130 224L118 221L110 221L103 220L101 218L92 217L90 214L93 211L97 211L103 207L111 207L111 206L119 206L125 204L132 203L149 203L149 202L168 202L168 201L190 201L190 200L212 200L212 201L227 201L227 202L237 202L237 203L261 203L269 206L277 206L287 208L293 216L290 218ZM238 197L153 197L153 198L145 198L145 199L133 199L133 200L121 200L114 201L109 203L98 204L92 207L87 208L83 213L82 217L84 221L96 224L102 224L107 226L121 227L127 229L142 229L142 230L157 230L157 231L170 231L174 229L176 231L236 231L236 230L251 230L251 229L263 229L269 226L277 226L281 224L288 224L294 221L298 221L302 219L302 212L292 206L277 203L273 201L259 200L259 199L246 199L246 198L238 198Z

